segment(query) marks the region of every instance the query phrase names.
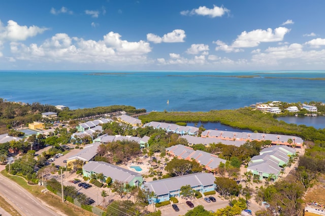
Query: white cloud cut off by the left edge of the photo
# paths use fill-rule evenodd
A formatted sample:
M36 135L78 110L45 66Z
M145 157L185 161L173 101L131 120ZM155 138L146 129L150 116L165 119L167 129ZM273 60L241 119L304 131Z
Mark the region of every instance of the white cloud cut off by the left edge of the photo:
M27 38L34 37L39 33L43 33L48 28L41 28L35 25L27 27L26 25L18 25L13 20L8 21L6 27L1 27L0 21L0 40L1 41L25 41Z

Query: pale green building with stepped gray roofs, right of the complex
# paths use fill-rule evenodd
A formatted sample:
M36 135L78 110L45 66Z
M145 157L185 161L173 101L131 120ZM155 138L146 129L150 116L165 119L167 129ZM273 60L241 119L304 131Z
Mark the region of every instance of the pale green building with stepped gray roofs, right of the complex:
M287 146L273 146L263 149L259 155L251 158L247 171L258 175L259 179L272 178L273 181L279 177L284 165L289 159L296 155L296 149Z

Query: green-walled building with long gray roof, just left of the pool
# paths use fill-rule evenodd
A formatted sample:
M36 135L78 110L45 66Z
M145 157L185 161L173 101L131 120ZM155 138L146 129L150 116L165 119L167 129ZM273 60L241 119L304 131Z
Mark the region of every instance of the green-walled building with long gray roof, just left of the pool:
M140 186L143 183L142 175L119 166L102 161L90 161L82 167L83 176L90 177L92 174L103 173L105 181L108 177L112 182L119 181L130 186Z

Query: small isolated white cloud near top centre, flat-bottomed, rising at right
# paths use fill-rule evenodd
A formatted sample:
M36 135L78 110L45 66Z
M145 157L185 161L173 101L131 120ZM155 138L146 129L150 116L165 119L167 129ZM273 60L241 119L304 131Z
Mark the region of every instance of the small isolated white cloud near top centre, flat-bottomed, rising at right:
M155 44L159 44L161 42L165 42L165 43L184 42L185 37L186 37L185 31L182 29L175 29L172 32L164 34L163 37L159 37L158 35L153 33L147 34L147 40Z

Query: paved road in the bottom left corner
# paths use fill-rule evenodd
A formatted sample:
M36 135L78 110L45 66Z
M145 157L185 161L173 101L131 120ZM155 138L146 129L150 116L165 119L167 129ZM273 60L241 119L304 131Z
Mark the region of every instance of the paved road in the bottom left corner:
M3 168L0 167L0 170ZM21 215L59 215L44 206L28 191L0 174L0 195L6 199Z

